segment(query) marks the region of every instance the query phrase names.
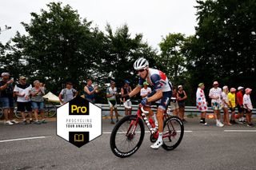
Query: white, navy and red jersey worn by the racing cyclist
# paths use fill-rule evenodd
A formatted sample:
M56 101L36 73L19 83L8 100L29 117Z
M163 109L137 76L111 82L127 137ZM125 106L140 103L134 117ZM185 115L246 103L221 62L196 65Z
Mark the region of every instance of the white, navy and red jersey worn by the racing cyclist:
M170 92L172 90L170 81L166 77L166 74L162 73L162 71L158 69L149 69L147 77L150 77L150 79L146 80L140 77L138 85L142 87L143 83L147 81L150 85L154 86L155 91L162 89L162 92Z

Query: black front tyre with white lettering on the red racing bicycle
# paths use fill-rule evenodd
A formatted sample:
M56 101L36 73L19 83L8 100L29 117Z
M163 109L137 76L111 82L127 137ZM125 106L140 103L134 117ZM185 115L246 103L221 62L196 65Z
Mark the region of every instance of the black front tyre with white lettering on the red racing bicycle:
M138 119L138 125L136 127L136 130L138 130L138 127L140 128L139 129L140 132L136 132L135 134L129 133L128 136L126 135L127 134L126 132L129 129L129 126L132 124L131 122L129 123L129 121L136 121L136 119L137 119L137 115L129 115L129 116L123 117L122 120L118 121L117 125L114 126L113 131L111 132L111 136L110 136L110 148L115 156L118 156L121 158L131 156L135 152L137 152L138 148L141 146L142 140L145 135L145 127L144 127L142 119L140 119L140 118ZM122 125L124 127L122 127ZM132 125L132 127L130 128L130 131L132 129L134 129L133 127L134 127L134 125ZM118 132L118 130L120 128L124 129L124 131ZM129 146L134 141L136 134L140 134L140 136L138 138L138 143L135 144L134 147L132 147L130 150L122 151L120 146L117 144L117 140L118 140L117 134L121 134L120 138L122 139L122 145L124 145L126 142Z

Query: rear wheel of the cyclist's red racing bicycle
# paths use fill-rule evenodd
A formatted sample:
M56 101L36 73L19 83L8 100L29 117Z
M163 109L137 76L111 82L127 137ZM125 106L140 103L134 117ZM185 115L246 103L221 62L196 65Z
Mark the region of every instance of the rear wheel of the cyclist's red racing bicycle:
M164 121L162 135L162 148L166 149L167 151L177 148L178 145L181 143L184 135L184 125L182 123L182 120L178 117L167 118L166 121ZM166 137L164 137L165 135Z

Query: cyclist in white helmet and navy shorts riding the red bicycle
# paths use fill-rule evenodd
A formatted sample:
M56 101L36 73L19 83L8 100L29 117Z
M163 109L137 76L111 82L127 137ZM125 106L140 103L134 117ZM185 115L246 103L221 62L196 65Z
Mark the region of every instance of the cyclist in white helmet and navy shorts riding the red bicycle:
M161 99L157 110L157 120L159 126L158 140L150 146L151 148L159 148L162 145L163 113L165 113L170 103L172 85L166 77L165 73L162 73L162 71L158 69L149 68L149 62L143 57L138 58L138 60L134 62L134 69L137 71L139 76L138 85L133 91L124 95L123 97L126 97L126 99L134 97L137 93L140 92L143 87L143 82L145 81L154 86L152 93L142 99L141 105L145 106L152 101L158 101ZM150 111L150 108L146 107L145 110Z

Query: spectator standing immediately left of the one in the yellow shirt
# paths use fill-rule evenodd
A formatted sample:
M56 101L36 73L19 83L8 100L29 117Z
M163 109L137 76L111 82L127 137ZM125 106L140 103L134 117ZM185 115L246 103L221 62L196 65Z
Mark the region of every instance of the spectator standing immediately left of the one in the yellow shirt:
M229 98L228 98L228 93L229 93L229 88L225 85L223 86L223 91L222 91L222 103L223 103L223 123L224 125L232 125L230 124L230 115L229 115Z

